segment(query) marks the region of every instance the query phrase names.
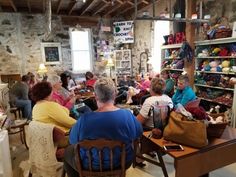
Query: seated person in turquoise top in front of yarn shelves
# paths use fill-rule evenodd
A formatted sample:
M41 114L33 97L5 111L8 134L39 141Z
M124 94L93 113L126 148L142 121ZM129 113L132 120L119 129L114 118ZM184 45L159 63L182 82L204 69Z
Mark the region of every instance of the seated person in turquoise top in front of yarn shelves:
M196 99L196 94L189 86L189 78L187 75L180 75L178 78L177 89L172 97L174 106L182 104L185 106L188 102Z

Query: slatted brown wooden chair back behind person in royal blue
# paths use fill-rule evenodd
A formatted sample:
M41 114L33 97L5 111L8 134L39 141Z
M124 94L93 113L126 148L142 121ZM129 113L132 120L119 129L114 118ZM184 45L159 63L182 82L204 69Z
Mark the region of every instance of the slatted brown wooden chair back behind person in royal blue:
M121 157L120 157L120 168L114 168L113 165L113 149L116 147L120 147L121 149ZM80 149L83 148L86 150L88 161L88 168L84 169L82 166L82 160L80 156ZM93 158L92 158L92 149L96 148L99 154L99 170L94 170L92 167ZM108 148L110 152L110 169L104 170L103 169L103 149ZM98 139L98 140L84 140L77 144L77 161L78 161L78 171L81 177L84 176L120 176L125 177L125 144L120 141L113 141L113 140L105 140L105 139Z

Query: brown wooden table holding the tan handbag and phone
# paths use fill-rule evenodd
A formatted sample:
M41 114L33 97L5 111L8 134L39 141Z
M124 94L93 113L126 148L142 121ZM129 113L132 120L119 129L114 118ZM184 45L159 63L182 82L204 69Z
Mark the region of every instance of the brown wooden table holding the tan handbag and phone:
M144 132L145 146L162 150L164 139L148 138ZM183 146L184 151L166 152L174 158L175 177L208 176L208 173L236 162L236 129L226 127L220 138L209 140L209 145L196 149Z

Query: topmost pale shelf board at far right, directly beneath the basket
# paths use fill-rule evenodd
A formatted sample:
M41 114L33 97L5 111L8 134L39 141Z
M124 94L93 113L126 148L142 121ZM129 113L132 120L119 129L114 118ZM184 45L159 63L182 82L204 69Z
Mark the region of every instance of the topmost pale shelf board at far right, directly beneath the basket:
M195 41L195 46L201 45L213 45L213 44L226 44L236 42L236 38L228 37L228 38L220 38L220 39L212 39L212 40L204 40L204 41Z

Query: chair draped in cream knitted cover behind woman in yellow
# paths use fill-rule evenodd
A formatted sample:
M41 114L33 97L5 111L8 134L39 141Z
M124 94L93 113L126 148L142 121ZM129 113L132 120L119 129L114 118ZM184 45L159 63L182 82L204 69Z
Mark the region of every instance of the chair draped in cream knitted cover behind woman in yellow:
M28 176L40 174L41 176L56 175L65 177L62 164L64 151L58 157L56 150L59 141L65 136L64 132L54 125L31 121L28 127L28 134L30 162Z

